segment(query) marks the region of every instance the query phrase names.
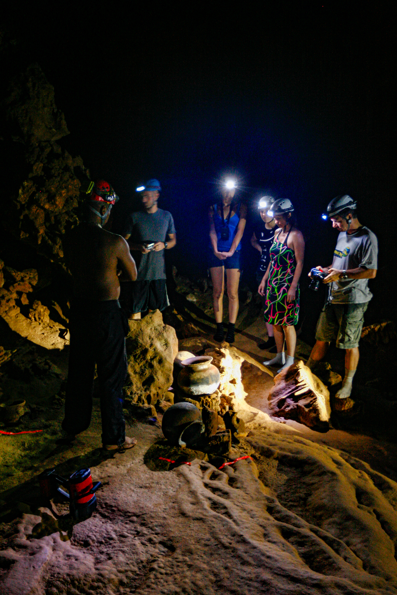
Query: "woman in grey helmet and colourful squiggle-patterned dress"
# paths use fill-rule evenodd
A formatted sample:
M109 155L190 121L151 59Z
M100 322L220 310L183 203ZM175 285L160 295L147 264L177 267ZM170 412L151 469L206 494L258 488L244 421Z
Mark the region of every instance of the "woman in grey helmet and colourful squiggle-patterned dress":
M273 324L277 355L265 365L282 365L282 369L293 364L296 346L295 324L299 315L299 277L302 273L305 240L301 231L293 224L293 205L287 198L273 203L271 211L280 228L274 234L270 248L270 263L262 278L258 292L266 296L265 322ZM284 338L287 355L283 352ZM284 365L283 365L284 364Z

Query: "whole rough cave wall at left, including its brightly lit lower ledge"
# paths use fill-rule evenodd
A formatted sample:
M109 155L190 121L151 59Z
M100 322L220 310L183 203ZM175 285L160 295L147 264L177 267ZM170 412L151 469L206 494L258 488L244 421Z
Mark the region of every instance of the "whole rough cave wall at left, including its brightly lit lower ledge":
M8 175L0 198L0 315L37 345L62 349L67 318L57 304L60 316L51 320L51 303L42 303L35 292L65 270L62 239L79 223L80 187L87 186L89 173L79 156L55 142L69 132L39 65L3 88L1 143Z

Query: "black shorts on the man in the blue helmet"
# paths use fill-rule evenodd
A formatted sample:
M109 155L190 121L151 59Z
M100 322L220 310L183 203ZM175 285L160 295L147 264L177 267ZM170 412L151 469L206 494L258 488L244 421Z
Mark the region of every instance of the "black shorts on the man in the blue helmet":
M121 285L124 294L123 306L130 311L130 314L157 309L162 312L170 305L165 283L165 279L123 283ZM124 288L125 285L128 287Z

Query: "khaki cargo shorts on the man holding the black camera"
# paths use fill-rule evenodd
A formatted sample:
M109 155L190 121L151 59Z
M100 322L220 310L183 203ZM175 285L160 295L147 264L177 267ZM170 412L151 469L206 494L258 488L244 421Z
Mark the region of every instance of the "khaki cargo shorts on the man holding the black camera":
M316 340L336 341L340 349L358 347L367 308L368 302L326 303L315 329Z

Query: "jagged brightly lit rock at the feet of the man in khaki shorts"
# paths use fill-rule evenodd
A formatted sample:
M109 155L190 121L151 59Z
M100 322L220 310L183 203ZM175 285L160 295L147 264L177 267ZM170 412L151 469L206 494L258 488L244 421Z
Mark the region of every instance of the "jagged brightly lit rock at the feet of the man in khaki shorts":
M312 430L329 430L329 390L302 361L277 374L268 400L276 417L295 419Z

